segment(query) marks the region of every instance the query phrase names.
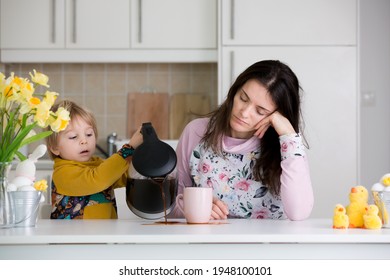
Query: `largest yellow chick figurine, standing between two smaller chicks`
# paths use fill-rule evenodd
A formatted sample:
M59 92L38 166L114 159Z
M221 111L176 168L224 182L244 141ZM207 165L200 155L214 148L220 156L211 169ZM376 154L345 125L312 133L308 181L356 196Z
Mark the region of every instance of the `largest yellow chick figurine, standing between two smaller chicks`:
M350 228L362 228L364 226L363 215L368 207L368 191L363 186L351 188L349 193L349 205L347 215Z

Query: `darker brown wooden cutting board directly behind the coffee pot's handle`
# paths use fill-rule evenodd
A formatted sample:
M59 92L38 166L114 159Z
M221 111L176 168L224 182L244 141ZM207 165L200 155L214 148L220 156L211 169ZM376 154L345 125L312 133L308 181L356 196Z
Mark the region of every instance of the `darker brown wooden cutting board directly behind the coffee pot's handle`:
M169 134L168 93L129 93L127 103L127 137L145 122L151 122L159 139Z

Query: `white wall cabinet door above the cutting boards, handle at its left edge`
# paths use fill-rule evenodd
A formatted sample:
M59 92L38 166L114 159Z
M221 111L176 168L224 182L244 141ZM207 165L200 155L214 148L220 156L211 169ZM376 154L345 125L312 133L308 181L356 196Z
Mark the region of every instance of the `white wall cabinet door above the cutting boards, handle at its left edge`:
M216 0L132 2L132 47L216 49Z

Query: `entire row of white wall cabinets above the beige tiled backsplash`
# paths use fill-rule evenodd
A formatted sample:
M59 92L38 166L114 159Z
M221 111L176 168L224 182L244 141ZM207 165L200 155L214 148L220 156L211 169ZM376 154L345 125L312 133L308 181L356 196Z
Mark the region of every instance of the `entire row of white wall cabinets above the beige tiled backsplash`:
M4 63L217 61L217 0L0 1Z

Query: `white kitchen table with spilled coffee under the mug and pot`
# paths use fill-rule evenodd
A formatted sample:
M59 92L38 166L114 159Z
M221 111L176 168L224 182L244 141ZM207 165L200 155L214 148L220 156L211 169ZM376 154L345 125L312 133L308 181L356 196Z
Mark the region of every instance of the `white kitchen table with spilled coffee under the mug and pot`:
M332 229L331 219L38 220L0 229L0 259L390 259L390 229ZM162 220L161 220L162 222Z

